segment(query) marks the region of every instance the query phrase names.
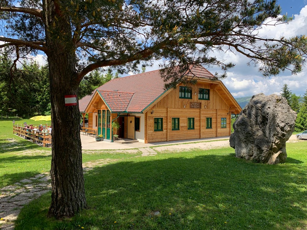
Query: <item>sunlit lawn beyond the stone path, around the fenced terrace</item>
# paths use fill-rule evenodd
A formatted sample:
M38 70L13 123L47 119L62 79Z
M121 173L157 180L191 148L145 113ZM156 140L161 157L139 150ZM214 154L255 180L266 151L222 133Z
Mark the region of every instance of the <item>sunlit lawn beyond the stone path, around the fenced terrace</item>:
M41 147L13 134L13 119L0 120L0 188L12 185L24 178L49 172L51 148ZM21 120L15 124L40 124L46 121ZM49 121L50 124L50 121ZM95 152L95 154L87 154ZM109 153L108 151L83 151L83 162L97 159L121 159L140 154Z

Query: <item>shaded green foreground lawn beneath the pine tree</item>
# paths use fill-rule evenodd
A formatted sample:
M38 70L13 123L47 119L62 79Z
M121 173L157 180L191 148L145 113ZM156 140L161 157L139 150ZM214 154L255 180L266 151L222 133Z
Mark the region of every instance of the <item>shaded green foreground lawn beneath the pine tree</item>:
M97 167L85 174L89 209L65 221L48 219L47 194L22 209L16 229L80 229L80 225L84 229L281 230L305 226L304 165L247 163L233 155L163 158Z

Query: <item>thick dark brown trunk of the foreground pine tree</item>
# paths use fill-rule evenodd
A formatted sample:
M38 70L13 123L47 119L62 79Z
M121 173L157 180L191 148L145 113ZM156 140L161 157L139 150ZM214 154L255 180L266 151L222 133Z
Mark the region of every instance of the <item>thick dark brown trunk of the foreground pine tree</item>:
M52 117L52 201L49 217L72 217L86 208L82 150L80 139L79 105L65 106L65 95L76 95L79 81L76 73L76 54L72 40L60 41L50 31L54 29L55 6L45 0L46 46L48 48L51 117ZM71 38L67 20L58 16L57 29Z

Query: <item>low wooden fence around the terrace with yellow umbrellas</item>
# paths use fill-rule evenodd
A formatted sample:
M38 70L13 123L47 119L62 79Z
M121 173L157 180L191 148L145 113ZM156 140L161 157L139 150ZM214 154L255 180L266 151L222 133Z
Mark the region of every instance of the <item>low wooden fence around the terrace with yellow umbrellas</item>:
M49 133L34 131L33 129L25 128L18 125L13 125L13 134L27 137L29 140L32 140L33 143L41 143L43 144L43 147L48 147L48 144L51 144L52 140L51 134Z

